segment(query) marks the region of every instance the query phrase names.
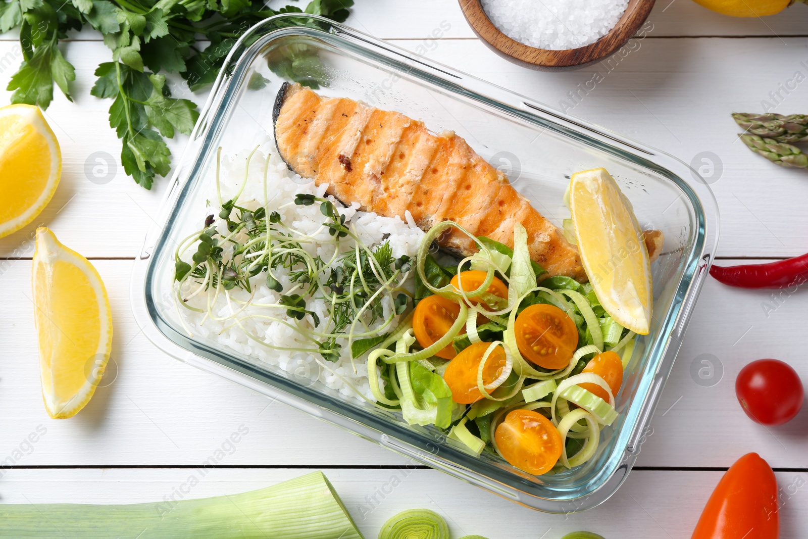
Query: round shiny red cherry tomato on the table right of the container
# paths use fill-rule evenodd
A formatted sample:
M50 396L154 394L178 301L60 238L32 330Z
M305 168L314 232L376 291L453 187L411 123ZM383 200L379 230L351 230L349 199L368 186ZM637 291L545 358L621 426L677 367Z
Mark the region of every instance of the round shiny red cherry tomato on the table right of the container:
M747 364L735 379L735 395L743 411L764 425L782 425L802 408L802 381L791 365L779 360Z

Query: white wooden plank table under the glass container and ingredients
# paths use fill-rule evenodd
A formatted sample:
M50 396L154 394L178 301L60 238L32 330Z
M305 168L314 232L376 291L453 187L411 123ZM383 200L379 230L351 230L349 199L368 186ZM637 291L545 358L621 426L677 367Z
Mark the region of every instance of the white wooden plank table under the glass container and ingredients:
M625 57L566 73L532 72L497 57L474 38L455 0L357 0L347 23L552 106L567 103L575 115L685 162L713 152L722 168L710 179L722 213L722 263L808 251L808 173L752 155L736 140L729 116L762 111L764 100L776 112L808 112L808 82L789 82L797 73L800 80L808 76L808 8L794 6L767 19L730 19L690 0L660 0L649 20L646 39ZM435 28L444 28L442 39L431 39ZM110 53L91 32L64 48L76 66L75 103L57 95L47 111L63 153L61 185L35 224L0 239L0 464L11 464L0 470L0 502L162 499L243 425L249 433L234 448L225 446L229 451L215 470L185 496L246 491L320 469L367 537L376 537L381 523L398 511L431 507L447 517L455 537L555 539L587 529L610 538L679 539L690 537L722 470L756 451L780 482L781 537L806 537L808 406L791 423L765 428L751 423L734 398L739 369L761 357L788 361L808 382L804 291L775 298L708 280L653 433L625 486L583 514L533 512L436 471L414 470L403 457L181 364L149 343L133 321L129 274L166 181L146 192L119 164L112 165L109 183L90 182L90 154L120 153L107 124L109 102L89 95L92 72ZM2 36L0 86L19 60L13 36ZM596 72L604 80L570 101L569 92ZM9 94L0 95L0 104L7 103ZM205 97L193 99L201 103ZM172 145L175 156L184 143L179 137ZM116 377L112 383L105 378L86 409L65 421L48 419L40 397L29 284L39 223L93 261L115 318L110 373ZM713 385L697 384L690 374L703 354L721 366L722 377ZM28 443L37 430L44 434ZM368 512L369 496L393 477L401 485L377 496Z

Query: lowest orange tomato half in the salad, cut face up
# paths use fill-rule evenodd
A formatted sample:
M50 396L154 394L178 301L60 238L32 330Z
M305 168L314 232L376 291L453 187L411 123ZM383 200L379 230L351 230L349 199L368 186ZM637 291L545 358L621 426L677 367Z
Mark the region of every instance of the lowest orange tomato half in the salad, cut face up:
M558 429L532 410L509 412L497 426L494 439L505 460L528 474L546 474L561 457Z

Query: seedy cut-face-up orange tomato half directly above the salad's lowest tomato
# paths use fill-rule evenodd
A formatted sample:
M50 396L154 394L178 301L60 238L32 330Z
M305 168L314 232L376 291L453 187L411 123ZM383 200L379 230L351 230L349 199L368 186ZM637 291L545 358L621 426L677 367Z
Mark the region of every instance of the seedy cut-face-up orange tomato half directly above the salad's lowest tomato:
M578 347L578 328L555 305L530 305L516 317L516 345L525 359L542 368L564 368Z

